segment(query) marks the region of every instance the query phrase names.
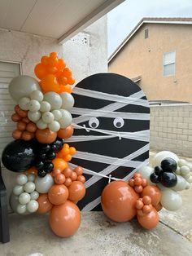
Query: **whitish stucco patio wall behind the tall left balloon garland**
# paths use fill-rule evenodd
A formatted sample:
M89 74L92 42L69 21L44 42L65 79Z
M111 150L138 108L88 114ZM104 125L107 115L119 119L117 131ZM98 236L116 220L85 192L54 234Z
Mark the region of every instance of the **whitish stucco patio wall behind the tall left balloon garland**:
M107 17L90 25L63 45L53 38L0 30L0 61L15 61L22 65L22 73L34 77L33 68L42 55L56 51L69 68L76 82L94 74L107 72ZM16 174L2 170L8 193L15 184Z

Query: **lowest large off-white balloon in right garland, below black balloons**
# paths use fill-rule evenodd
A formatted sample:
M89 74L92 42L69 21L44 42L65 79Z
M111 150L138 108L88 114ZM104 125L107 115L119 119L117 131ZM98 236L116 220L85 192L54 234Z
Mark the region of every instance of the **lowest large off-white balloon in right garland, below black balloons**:
M172 189L161 192L161 205L167 210L178 210L182 205L182 197Z

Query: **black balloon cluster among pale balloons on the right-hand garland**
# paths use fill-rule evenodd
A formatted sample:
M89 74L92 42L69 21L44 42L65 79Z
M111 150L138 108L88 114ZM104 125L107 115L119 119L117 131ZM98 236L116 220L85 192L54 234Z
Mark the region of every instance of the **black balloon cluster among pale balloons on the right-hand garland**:
M155 166L155 172L151 174L152 183L162 183L164 187L172 188L177 184L177 162L172 158L165 158L160 166Z

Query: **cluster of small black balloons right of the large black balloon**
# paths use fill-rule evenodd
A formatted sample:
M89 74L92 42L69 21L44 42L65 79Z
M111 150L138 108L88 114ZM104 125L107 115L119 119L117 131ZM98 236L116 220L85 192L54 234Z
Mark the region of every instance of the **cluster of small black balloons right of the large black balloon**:
M55 139L55 142L50 144L41 144L38 146L38 155L35 162L35 167L37 169L37 174L39 177L45 177L46 174L49 174L54 165L52 160L56 157L56 152L63 147L63 139Z

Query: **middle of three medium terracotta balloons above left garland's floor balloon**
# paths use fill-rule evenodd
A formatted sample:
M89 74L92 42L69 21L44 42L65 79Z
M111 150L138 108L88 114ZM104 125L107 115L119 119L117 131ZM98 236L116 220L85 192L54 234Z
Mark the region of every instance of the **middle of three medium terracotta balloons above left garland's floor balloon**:
M55 184L49 192L48 198L53 205L62 205L68 200L68 188L65 185Z

